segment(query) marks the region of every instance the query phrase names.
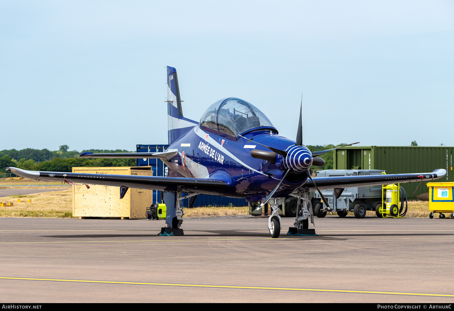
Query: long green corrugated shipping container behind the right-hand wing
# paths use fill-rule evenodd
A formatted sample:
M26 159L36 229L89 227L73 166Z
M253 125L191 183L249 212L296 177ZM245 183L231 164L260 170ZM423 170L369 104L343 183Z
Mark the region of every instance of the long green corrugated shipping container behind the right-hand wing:
M333 154L333 166L337 170L385 170L386 174L429 173L443 168L446 176L437 182L454 181L454 147L423 146L349 146L337 149ZM413 194L419 182L401 184L409 200L428 192L426 182L422 182Z

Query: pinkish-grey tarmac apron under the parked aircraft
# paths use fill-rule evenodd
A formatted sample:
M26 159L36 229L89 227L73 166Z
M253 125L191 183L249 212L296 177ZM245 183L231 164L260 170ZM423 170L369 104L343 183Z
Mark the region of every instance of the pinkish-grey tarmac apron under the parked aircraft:
M327 216L318 236L286 236L282 218L271 239L244 217L188 218L184 236L157 236L163 220L0 218L2 300L454 302L450 218Z

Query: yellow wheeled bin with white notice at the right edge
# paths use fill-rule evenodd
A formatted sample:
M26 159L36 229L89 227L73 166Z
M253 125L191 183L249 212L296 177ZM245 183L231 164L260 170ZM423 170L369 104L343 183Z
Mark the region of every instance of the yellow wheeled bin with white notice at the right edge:
M429 187L429 218L434 218L434 213L439 213L439 218L444 218L443 213L451 213L454 218L454 182L428 182Z

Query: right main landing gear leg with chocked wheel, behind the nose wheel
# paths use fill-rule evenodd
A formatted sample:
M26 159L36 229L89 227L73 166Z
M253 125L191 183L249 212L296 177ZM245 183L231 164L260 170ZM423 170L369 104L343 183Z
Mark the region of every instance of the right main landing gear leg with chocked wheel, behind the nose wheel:
M309 196L309 190L304 189L298 191L298 201L296 208L296 219L293 223L294 227L289 227L288 236L316 236L315 229L309 228L309 218L311 223L315 226L314 215L312 213L311 198Z

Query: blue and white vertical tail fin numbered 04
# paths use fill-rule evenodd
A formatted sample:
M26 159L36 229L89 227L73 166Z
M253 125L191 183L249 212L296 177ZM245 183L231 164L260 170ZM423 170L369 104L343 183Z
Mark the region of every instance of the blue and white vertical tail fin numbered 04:
M170 66L167 66L167 118L169 145L197 124L197 122L183 117L177 70Z

